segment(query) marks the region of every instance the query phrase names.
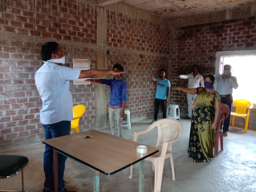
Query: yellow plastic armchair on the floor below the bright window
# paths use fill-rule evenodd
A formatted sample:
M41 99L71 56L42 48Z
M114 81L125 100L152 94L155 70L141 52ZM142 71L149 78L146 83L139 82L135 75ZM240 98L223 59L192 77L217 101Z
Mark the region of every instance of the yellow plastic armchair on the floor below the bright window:
M232 116L232 126L235 125L235 117L244 118L244 132L247 132L249 117L252 109L252 103L245 99L238 99L233 101L236 104L236 112L231 112ZM246 113L247 106L249 105L248 111Z

